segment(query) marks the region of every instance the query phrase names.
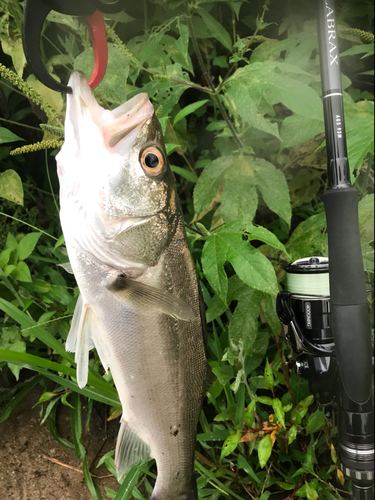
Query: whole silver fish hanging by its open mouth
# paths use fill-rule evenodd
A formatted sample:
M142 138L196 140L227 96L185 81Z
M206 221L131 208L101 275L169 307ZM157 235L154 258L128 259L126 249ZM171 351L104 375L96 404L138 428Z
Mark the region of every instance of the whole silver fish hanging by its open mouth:
M118 478L154 458L152 500L197 500L194 456L206 379L204 313L163 134L146 93L113 110L72 73L56 156L60 220L80 291L66 350L77 383L90 349L122 405Z

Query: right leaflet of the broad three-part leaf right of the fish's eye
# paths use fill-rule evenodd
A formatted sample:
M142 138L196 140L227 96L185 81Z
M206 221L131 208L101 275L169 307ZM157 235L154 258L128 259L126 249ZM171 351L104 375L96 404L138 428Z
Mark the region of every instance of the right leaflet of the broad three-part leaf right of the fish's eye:
M284 174L272 163L258 158L255 162L255 180L265 204L290 226L292 208Z

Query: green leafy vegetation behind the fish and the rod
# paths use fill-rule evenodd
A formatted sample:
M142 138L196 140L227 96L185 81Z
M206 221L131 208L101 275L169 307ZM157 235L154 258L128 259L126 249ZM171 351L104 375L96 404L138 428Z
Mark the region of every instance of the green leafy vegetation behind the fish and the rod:
M349 496L338 468L334 412L319 407L307 381L293 371L275 312L287 262L327 255L315 4L140 0L106 16L109 64L96 98L113 108L149 93L207 306L207 358L215 380L197 436L200 499ZM372 307L374 12L369 0L336 4ZM88 386L79 389L64 348L78 296L59 223L54 161L64 97L40 84L25 64L22 8L18 0L0 2L0 422L42 385L42 419L61 445L75 448L99 499L81 441L81 404L87 398L89 417L94 404L108 405L110 418L121 409L96 352ZM77 68L91 74L82 20L51 13L42 42L55 78L66 82ZM71 441L55 425L61 405L70 406ZM113 451L103 462L116 474ZM107 496L145 500L154 477L153 461L133 467Z

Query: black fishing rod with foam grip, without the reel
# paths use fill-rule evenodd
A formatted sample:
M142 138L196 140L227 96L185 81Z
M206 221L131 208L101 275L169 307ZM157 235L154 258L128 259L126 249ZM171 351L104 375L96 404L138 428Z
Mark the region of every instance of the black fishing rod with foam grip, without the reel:
M372 498L374 410L371 327L358 222L350 184L334 0L318 0L319 50L327 145L327 216L332 330L340 372L339 440L355 500ZM369 496L370 495L370 496Z

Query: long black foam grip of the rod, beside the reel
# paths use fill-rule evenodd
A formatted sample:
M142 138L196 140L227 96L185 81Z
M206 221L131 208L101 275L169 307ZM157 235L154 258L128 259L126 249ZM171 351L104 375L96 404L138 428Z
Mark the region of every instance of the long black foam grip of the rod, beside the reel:
M358 222L358 191L323 195L327 216L331 317L346 396L365 404L371 394L371 326ZM343 394L342 404L347 399ZM348 408L346 408L348 409Z

